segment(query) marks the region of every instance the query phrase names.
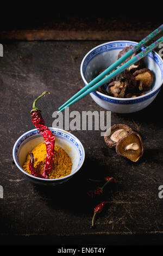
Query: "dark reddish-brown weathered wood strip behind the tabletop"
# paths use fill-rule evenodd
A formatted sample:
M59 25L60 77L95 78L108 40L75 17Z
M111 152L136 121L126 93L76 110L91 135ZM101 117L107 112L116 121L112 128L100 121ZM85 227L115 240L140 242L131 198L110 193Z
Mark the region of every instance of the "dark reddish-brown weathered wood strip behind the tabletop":
M0 17L0 40L141 40L162 23L161 16L153 19L149 13L137 14L99 12L45 16L14 15L12 22ZM147 15L147 16L145 16Z

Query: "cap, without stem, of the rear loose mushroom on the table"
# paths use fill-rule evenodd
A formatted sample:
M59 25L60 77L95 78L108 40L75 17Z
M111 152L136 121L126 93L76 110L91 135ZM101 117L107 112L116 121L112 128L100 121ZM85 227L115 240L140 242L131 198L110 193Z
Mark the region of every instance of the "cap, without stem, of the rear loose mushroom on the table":
M110 137L114 134L114 132L118 131L118 130L124 130L126 131L126 135L128 135L128 133L132 132L133 130L126 124L115 124L112 125L110 127L110 129L108 131L110 131L110 135L107 136L108 131L106 131L106 136L104 136L104 141L106 143L106 145L108 145L109 148L115 148L117 141L113 141ZM125 135L125 136L126 136ZM121 139L121 138L120 138Z

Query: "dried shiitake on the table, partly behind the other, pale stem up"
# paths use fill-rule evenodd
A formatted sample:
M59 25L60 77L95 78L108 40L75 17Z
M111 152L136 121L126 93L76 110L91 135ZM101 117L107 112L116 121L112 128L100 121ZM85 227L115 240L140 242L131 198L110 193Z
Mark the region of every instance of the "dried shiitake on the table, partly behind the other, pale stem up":
M120 139L133 131L128 125L125 124L112 125L110 130L110 135L107 136L108 131L106 131L106 136L104 136L104 141L109 148L114 148Z

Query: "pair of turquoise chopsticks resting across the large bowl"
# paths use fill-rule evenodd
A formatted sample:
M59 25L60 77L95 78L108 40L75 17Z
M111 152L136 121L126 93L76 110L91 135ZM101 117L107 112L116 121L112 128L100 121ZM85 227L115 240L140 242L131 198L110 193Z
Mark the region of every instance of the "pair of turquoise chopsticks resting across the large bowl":
M109 66L109 68L105 69L101 74L99 74L97 77L95 77L90 83L87 84L84 88L79 90L78 93L76 93L74 96L72 96L68 101L66 101L62 106L59 107L59 112L63 111L66 107L71 106L73 103L76 103L80 99L82 99L87 94L90 94L91 92L95 91L97 88L101 87L103 84L120 74L122 71L129 68L129 66L136 63L138 60L145 57L149 52L153 51L156 47L159 46L161 42L163 42L163 36L153 42L153 44L149 45L147 48L142 50L140 53L136 54L133 58L128 60L128 62L124 63L122 66L117 68L120 64L122 64L125 60L127 60L130 56L133 55L133 53L136 53L140 50L142 46L144 46L148 41L155 38L155 36L159 35L163 31L163 24L156 28L155 31L153 31L151 34L147 35L146 38L142 39L137 45L135 45L133 48L131 48L126 54L124 54L120 59L118 59L115 63ZM117 69L116 69L117 68ZM112 70L113 71L110 75L108 75ZM106 76L108 75L108 76ZM106 76L106 77L104 77ZM103 78L104 77L104 78ZM102 79L103 78L103 79ZM102 80L101 80L102 79Z

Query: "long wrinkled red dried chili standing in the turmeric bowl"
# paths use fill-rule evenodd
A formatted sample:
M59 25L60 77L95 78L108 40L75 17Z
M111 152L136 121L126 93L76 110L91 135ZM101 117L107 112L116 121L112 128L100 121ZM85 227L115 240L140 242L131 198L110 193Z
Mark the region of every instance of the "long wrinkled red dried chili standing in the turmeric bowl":
M48 129L48 127L45 125L45 121L42 118L41 110L36 107L36 102L39 100L43 95L46 93L50 94L49 92L43 92L39 97L37 97L36 100L33 102L33 109L30 111L32 115L32 121L36 127L36 129L41 133L43 136L43 139L46 144L46 162L45 167L43 169L42 178L48 179L48 175L52 170L52 165L54 161L54 144L55 144L55 137L52 134L52 132ZM34 162L34 160L33 160ZM31 168L31 169L30 169ZM32 169L32 165L29 166L30 170Z

